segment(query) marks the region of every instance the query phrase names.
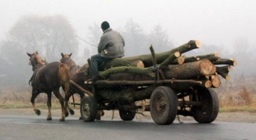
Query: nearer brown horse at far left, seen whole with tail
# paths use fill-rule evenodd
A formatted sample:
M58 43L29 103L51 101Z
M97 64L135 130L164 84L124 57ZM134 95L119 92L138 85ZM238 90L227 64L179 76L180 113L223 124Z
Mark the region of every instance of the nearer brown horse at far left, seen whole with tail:
M65 115L68 115L64 107L64 98L61 96L59 88L62 87L65 95L69 92L70 72L67 65L59 62L48 63L47 65L41 60L36 51L33 54L27 53L29 56L29 65L32 65L34 71L33 76L29 80L32 85L31 103L35 114L40 115L41 111L35 107L35 98L38 94L44 92L47 94L48 117L47 120L52 120L51 114L51 97L53 94L61 103L61 118L60 121L65 120ZM67 104L67 103L66 103Z

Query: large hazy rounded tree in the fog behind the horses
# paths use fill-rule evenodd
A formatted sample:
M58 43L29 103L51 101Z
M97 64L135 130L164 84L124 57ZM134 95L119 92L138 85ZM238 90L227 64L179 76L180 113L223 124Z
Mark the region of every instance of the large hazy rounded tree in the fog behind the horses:
M0 46L0 74L8 75L4 83L27 84L32 71L26 52L37 50L48 62L59 61L61 52L77 53L78 41L66 17L29 15L17 20Z

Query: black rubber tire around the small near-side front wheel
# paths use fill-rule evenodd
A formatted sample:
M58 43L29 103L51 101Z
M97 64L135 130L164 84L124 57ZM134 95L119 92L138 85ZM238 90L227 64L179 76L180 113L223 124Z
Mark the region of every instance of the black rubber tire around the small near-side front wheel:
M88 117L83 114L83 105L88 103L90 108L90 115ZM83 97L81 100L80 113L85 122L93 122L97 117L98 106L94 97Z

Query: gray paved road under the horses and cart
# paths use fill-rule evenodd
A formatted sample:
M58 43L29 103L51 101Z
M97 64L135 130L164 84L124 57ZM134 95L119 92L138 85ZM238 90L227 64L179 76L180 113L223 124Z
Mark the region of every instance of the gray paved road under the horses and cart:
M256 140L256 123L158 126L152 120L84 123L72 117L59 122L57 117L0 116L0 140Z

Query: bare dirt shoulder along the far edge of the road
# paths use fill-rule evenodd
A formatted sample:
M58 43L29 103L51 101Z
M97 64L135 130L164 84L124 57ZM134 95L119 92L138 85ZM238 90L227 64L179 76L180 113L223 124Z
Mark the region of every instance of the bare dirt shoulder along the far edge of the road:
M41 115L47 116L47 109L41 109ZM60 116L61 110L60 109L52 109L52 116ZM137 114L135 119L137 120L149 120L151 119L149 112L144 112L146 117L142 116L141 114ZM0 109L0 115L32 115L36 116L32 109ZM79 118L80 112L79 109L75 109L75 115L73 117ZM105 111L105 115L102 118L110 119L112 117L112 111ZM114 119L120 118L119 112L114 111ZM180 116L181 121L185 120L194 120L192 117L183 117ZM256 123L256 112L221 112L218 114L218 117L215 121L220 122L243 122L243 123Z

